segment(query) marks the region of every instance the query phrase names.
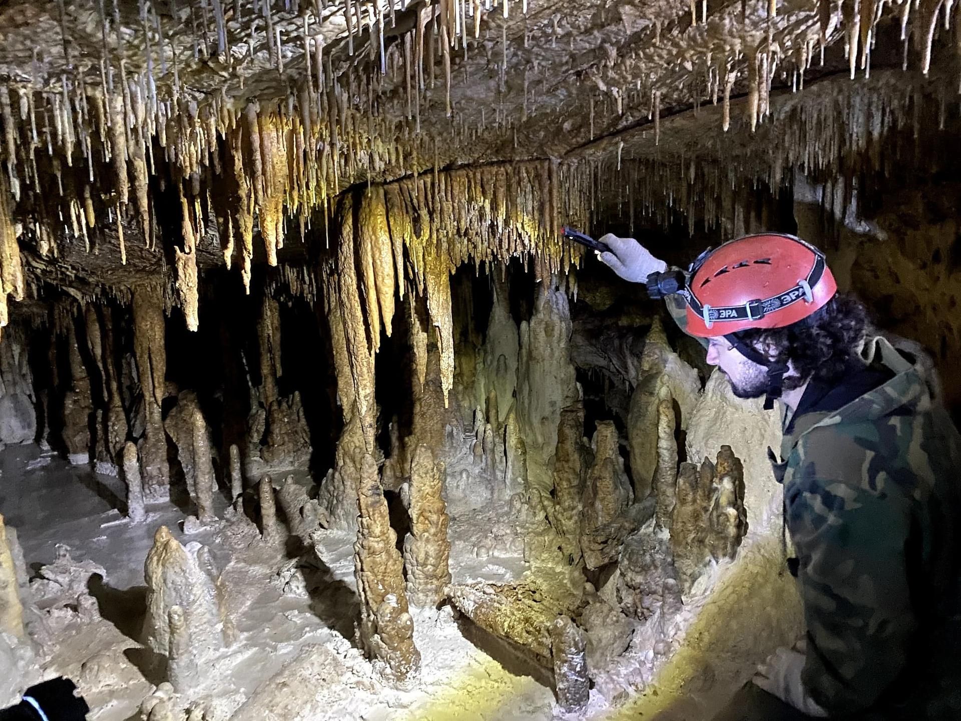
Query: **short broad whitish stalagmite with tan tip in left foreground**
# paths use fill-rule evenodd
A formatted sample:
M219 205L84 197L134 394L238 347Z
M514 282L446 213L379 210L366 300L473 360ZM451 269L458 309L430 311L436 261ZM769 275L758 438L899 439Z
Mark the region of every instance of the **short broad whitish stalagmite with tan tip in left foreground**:
M226 646L227 609L203 548L196 542L181 545L165 526L160 526L143 567L147 584L144 643L166 657L172 642L170 611L180 607L185 628L177 633L189 639L188 650L179 659L185 664L209 662Z

